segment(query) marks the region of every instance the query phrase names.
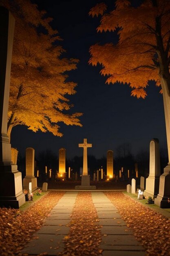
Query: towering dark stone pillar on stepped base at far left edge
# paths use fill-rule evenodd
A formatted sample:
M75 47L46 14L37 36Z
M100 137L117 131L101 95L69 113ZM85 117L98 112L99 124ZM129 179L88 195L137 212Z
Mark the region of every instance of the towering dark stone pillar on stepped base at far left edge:
M19 208L25 202L22 176L11 162L7 136L9 86L15 19L0 7L0 206Z

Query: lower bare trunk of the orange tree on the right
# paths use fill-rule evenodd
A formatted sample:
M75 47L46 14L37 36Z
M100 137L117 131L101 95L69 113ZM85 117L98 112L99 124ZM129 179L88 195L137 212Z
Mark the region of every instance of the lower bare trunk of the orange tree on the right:
M161 77L161 87L163 91L163 106L165 112L166 137L168 144L168 165L170 165L170 96L168 91L168 81L166 78Z

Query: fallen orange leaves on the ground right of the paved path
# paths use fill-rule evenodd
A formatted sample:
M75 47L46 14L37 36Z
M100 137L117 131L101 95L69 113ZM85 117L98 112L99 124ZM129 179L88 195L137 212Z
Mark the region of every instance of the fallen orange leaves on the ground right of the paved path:
M170 256L170 220L121 192L104 193L144 246L147 256Z

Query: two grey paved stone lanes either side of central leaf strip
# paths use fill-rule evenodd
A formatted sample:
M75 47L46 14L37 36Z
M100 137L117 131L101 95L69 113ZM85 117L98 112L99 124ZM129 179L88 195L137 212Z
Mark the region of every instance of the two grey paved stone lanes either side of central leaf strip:
M62 239L68 234L70 215L73 210L78 191L68 191L55 205L44 225L35 234L33 239L21 252L37 255L47 252L53 256L64 249ZM103 256L145 256L144 248L137 242L132 231L128 229L115 206L103 192L91 191L93 203L102 226Z

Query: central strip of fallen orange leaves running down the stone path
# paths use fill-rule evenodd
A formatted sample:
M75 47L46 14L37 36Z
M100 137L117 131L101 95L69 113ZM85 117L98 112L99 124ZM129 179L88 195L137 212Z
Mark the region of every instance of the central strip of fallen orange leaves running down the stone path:
M64 237L65 248L62 256L100 256L100 226L91 192L79 192L75 201L70 231Z

